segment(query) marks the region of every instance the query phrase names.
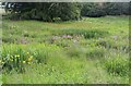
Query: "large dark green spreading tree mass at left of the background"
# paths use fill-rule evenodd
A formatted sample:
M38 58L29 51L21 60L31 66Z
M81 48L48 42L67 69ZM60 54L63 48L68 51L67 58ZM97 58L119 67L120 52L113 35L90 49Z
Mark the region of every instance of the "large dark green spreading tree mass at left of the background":
M20 15L16 17L17 20L52 22L56 17L60 17L62 21L69 21L79 20L81 16L80 4L71 2L9 2L5 9L11 12L11 15Z

